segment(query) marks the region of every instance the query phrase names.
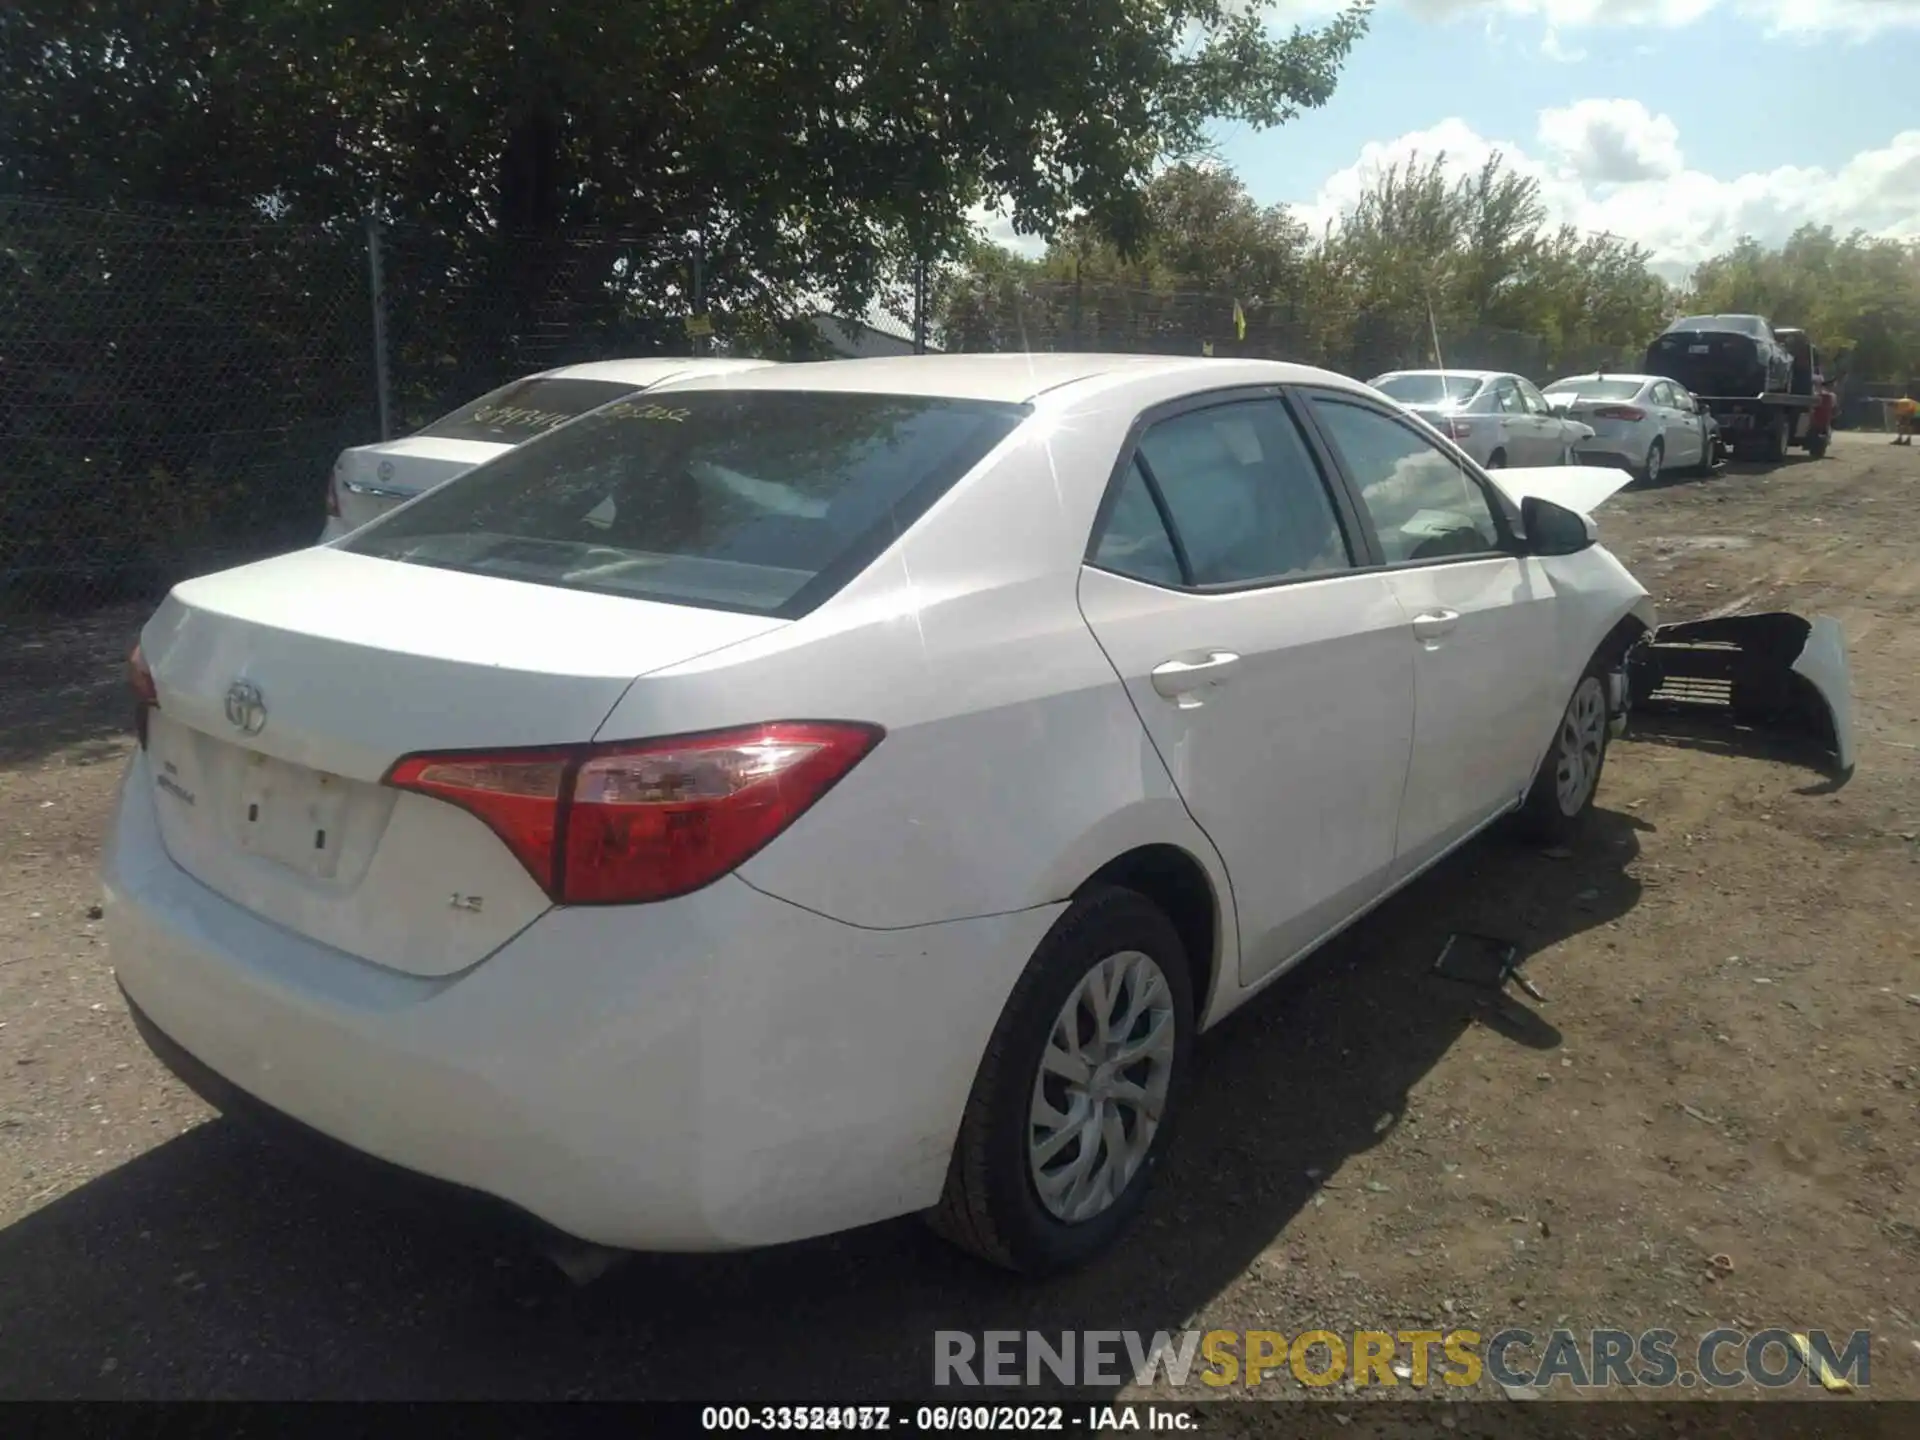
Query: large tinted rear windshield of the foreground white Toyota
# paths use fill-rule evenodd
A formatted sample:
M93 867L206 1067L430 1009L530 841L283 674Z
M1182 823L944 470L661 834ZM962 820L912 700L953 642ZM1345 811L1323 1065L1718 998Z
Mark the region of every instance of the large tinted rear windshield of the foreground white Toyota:
M793 618L1025 415L927 396L632 396L449 480L344 549Z

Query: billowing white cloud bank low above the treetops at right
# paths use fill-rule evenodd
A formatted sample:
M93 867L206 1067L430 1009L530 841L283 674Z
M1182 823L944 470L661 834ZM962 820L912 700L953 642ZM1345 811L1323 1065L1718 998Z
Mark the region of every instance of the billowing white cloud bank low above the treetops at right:
M1542 111L1532 146L1482 136L1463 119L1373 142L1296 213L1319 228L1386 165L1440 152L1461 171L1503 154L1540 182L1555 223L1634 240L1674 280L1743 234L1778 244L1807 223L1841 234L1860 228L1920 238L1920 131L1903 131L1839 169L1782 165L1722 179L1688 169L1674 123L1638 100L1582 100Z

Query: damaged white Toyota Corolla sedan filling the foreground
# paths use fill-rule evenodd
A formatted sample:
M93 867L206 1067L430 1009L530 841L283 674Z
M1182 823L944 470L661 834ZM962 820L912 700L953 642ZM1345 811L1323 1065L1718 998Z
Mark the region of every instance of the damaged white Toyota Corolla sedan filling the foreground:
M1588 812L1624 482L1261 361L649 390L167 597L113 964L223 1106L572 1236L1071 1265L1196 1031Z

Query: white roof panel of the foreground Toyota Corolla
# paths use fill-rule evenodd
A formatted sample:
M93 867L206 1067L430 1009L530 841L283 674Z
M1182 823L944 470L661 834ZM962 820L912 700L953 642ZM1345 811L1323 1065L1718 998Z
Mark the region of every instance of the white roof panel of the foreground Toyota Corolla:
M1284 361L1206 359L1200 355L876 355L868 359L806 361L774 365L751 374L728 376L730 390L837 390L881 396L935 396L947 399L996 399L1029 403L1052 390L1091 380L1148 380L1162 376L1194 378L1206 388L1210 376L1231 384L1334 384L1356 382L1344 374ZM674 390L699 390L701 376L676 378Z

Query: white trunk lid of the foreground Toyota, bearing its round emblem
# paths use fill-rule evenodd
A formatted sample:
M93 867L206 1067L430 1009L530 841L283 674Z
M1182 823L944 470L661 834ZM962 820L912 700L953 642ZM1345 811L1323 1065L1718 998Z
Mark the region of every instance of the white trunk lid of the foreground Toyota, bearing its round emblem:
M142 632L169 856L300 935L417 975L547 906L403 755L582 743L641 674L785 622L309 549L179 586Z

